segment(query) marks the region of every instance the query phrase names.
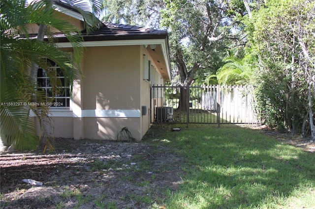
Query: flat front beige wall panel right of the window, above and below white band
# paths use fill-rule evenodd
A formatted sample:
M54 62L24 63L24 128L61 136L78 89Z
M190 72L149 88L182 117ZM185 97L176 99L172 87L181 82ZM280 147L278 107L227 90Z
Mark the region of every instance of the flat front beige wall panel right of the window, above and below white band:
M84 137L115 139L123 127L141 139L141 118L124 117L140 109L140 46L89 47L83 59L82 110L113 110L117 116L84 118Z

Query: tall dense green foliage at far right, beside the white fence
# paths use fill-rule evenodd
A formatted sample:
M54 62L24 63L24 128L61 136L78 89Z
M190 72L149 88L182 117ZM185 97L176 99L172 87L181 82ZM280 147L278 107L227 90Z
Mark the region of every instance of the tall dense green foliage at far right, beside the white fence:
M309 30L314 31L314 8L307 0L268 0L247 22L250 47L259 57L253 78L261 117L268 125L293 133L305 131L307 80L315 75L309 70L315 57L314 34Z

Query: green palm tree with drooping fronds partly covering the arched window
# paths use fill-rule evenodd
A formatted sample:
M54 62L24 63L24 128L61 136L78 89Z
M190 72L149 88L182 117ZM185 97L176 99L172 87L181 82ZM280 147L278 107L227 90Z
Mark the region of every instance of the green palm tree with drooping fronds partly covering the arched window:
M76 1L73 1L74 3ZM85 17L87 26L92 28L95 15L78 9ZM83 12L84 11L84 12ZM38 89L38 84L31 75L35 66L47 69L47 75L51 80L53 93L58 93L60 80L55 73L50 72L50 62L55 62L62 70L64 77L68 78L70 85L79 74L75 66L82 57L82 38L78 28L62 20L55 12L55 8L49 1L37 1L26 5L25 0L0 1L0 136L6 145L13 145L17 150L34 149L38 146L39 138L36 136L35 121L30 114L34 114L41 126L40 134L45 142L45 149L53 148L52 137L48 133L49 107L37 106L35 103L45 103L49 98ZM48 28L45 35L48 41L42 41L30 36L32 24L44 25ZM58 49L53 42L53 34L50 28L61 31L72 44L74 55ZM74 60L74 61L72 61ZM36 68L37 66L37 68Z

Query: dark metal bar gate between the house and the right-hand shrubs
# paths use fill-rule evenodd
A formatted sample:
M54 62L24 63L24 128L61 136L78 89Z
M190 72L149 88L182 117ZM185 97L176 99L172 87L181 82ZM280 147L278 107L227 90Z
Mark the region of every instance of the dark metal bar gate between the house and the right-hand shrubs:
M152 86L152 123L256 124L251 86Z

